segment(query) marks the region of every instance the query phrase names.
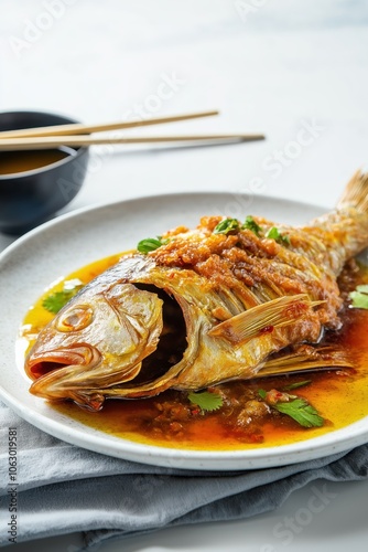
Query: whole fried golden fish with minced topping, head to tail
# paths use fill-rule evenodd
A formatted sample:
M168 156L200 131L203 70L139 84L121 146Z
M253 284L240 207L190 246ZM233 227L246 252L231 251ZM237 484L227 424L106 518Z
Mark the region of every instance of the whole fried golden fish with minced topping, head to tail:
M318 341L340 327L337 276L368 246L367 191L358 172L309 226L209 216L122 256L40 332L31 393L99 410L107 397L348 365Z

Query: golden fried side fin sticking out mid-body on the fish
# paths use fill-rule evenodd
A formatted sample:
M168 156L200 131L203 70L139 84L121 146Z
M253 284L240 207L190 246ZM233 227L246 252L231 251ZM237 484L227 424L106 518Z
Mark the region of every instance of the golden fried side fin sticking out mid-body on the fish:
M208 336L224 338L235 344L243 343L262 333L270 333L274 328L295 322L321 302L311 301L306 294L279 297L218 323L208 331Z

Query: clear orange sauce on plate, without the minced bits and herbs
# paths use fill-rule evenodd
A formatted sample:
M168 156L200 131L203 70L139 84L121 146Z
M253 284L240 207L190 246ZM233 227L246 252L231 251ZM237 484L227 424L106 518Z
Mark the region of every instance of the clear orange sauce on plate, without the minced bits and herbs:
M113 265L118 258L119 255L115 255L97 261L51 286L24 318L21 336L25 339L26 347L32 346L36 333L53 317L42 307L44 297L61 290L67 279L79 278L83 283L89 282ZM354 277L354 287L361 283L368 283L368 268L360 267ZM280 390L291 383L311 380L307 385L290 393L306 399L317 410L325 421L322 427L304 428L289 416L279 415L275 418L267 417L259 434L256 433L256 438L255 435L248 438L249 435L239 433L228 421L224 423L219 408L206 415L193 415L185 424L185 431L165 433L164 428L152 425L152 420L160 414L160 404L180 401L181 397L187 402L186 393L181 395L176 391L166 391L143 400L106 401L100 412L85 411L68 402L53 403L52 406L100 432L133 442L174 448L235 450L285 445L324 435L368 415L368 310L346 308L343 320L343 329L338 332L326 332L325 340L338 343L348 352L354 370L306 372L226 384L228 388L234 385L234 390L240 385L248 386L257 393L260 388Z

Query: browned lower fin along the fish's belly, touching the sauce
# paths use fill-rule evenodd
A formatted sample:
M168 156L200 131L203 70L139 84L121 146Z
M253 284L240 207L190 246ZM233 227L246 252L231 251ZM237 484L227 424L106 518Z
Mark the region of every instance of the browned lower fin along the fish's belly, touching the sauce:
M267 360L257 373L257 378L344 368L354 367L342 348L332 346L321 348L300 346L292 348L288 353L278 353L274 358Z

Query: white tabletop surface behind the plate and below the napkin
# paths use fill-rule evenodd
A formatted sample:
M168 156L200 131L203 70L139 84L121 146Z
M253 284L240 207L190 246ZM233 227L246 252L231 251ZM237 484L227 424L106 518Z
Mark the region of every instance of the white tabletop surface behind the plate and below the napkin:
M1 110L98 123L218 108L219 117L132 134L267 135L197 149L94 148L83 191L65 211L199 189L333 206L367 162L365 0L2 0L0 13ZM0 235L0 248L11 241ZM296 523L291 540L274 528L297 513L305 519L309 487L258 519L160 531L99 550L364 550L368 482L329 488L334 500ZM78 542L65 535L39 550L73 552Z

